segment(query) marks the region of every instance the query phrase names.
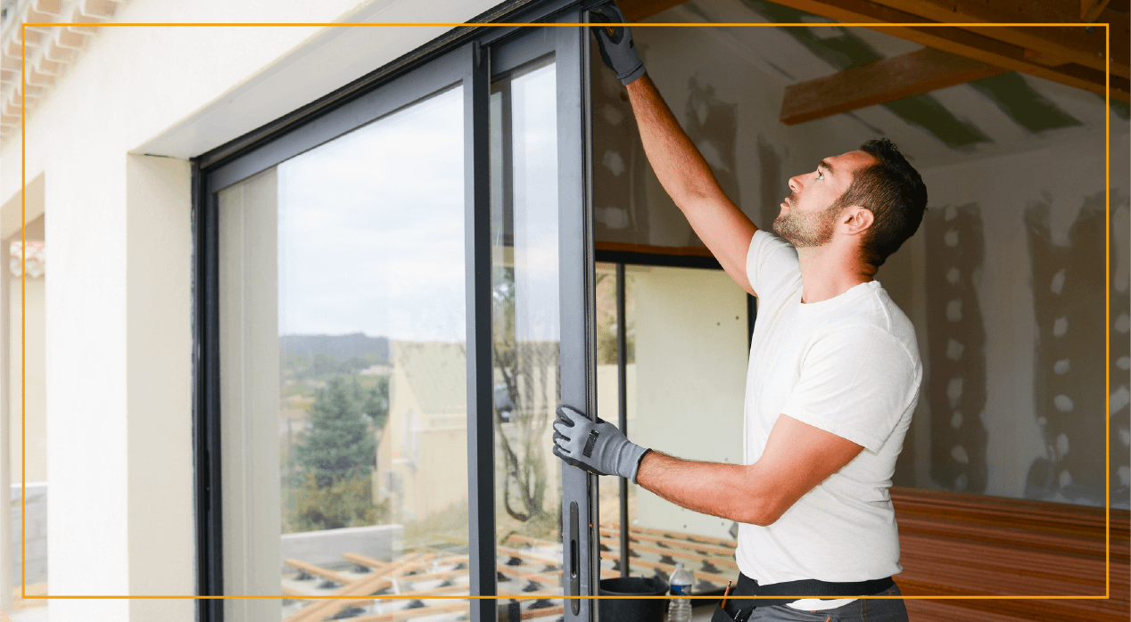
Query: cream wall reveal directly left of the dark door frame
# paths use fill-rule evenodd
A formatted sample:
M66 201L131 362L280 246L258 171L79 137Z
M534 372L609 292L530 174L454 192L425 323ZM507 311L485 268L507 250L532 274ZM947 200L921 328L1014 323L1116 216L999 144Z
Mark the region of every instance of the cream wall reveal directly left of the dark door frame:
M127 594L138 596L192 594L193 565L169 563L171 558L192 559L193 551L192 425L185 416L192 409L192 358L188 355L192 344L185 330L192 313L192 245L184 231L184 205L192 196L190 171L183 159L135 155L124 159L126 587ZM71 413L83 416L81 411ZM63 411L59 418L74 425L79 417L68 414ZM98 453L96 446L84 449L89 458ZM51 455L61 457L49 467L54 469L52 475L64 468L70 474L77 466L69 453ZM52 490L59 485L52 483ZM74 489L68 492L72 496L60 500L66 506L59 513L81 516ZM59 532L52 530L49 542L62 563L70 559L69 545L76 538L68 533L62 537L70 542L57 543ZM68 564L76 567L74 561ZM50 584L52 590L66 587L57 587L53 576ZM191 601L129 602L131 620L187 617L193 608Z

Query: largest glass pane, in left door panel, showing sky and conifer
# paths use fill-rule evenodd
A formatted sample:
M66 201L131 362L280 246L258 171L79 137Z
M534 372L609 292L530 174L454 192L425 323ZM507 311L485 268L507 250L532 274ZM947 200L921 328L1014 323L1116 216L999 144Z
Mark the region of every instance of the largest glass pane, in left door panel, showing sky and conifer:
M224 416L242 409L258 430L247 453L278 456L283 563L260 594L282 580L292 598L273 615L456 620L468 608L428 598L468 593L463 97L434 94L221 192L233 213L222 215L222 283L242 287L222 296L243 301L222 303L243 327L222 338ZM274 418L260 424L248 405L268 401ZM269 495L240 506L266 484L258 476L248 470L242 498L225 484L225 503L264 529L225 547L269 556L254 544ZM363 598L304 598L330 594Z

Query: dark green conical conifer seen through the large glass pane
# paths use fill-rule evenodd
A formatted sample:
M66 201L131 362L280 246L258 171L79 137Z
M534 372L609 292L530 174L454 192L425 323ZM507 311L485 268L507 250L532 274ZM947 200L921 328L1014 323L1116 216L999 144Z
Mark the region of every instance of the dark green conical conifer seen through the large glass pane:
M329 381L310 406L311 429L295 448L295 461L313 476L319 489L357 475L369 475L377 457L377 441L370 432L354 380Z

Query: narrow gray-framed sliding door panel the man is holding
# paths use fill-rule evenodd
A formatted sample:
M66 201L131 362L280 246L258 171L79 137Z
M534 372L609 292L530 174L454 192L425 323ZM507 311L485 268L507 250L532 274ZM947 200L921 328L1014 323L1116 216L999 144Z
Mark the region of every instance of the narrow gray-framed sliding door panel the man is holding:
M562 596L594 593L595 482L547 442L558 404L595 412L588 210L572 207L586 196L582 36L543 28L492 49L495 541L498 594L515 598L500 601L503 619L592 614Z

